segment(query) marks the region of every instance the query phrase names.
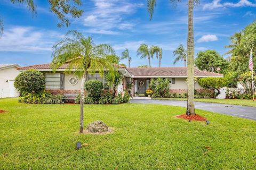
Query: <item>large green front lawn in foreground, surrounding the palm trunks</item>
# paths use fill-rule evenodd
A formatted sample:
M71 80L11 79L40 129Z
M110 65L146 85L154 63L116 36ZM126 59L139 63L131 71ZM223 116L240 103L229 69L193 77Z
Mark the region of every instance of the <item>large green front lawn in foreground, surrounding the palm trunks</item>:
M252 120L197 110L210 120L206 125L175 118L185 113L182 107L85 105L85 124L102 120L115 133L79 135L79 105L0 99L0 109L9 111L0 113L0 169L256 167L256 123ZM77 141L90 146L75 150Z

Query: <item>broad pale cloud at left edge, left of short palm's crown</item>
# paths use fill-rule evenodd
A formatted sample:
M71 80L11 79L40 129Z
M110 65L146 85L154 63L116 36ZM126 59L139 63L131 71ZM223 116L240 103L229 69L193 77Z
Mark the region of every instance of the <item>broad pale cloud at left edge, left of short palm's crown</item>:
M63 37L64 35L56 31L38 30L33 27L13 27L5 29L0 38L0 51L50 51L54 42Z

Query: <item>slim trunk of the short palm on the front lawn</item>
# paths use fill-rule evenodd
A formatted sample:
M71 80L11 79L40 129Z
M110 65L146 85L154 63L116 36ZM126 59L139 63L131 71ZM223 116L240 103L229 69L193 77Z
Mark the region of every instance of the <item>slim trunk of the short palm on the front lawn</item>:
M84 83L86 80L86 72L83 75L82 82L81 82L81 99L80 99L80 129L79 133L83 133L84 131Z

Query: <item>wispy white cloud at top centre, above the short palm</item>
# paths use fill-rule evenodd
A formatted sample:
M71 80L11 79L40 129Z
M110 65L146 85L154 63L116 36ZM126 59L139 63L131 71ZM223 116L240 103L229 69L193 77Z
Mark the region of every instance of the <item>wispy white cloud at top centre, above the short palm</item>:
M118 30L132 29L134 21L126 20L142 7L141 3L129 3L125 0L92 0L93 8L89 8L83 18L85 32L116 35Z

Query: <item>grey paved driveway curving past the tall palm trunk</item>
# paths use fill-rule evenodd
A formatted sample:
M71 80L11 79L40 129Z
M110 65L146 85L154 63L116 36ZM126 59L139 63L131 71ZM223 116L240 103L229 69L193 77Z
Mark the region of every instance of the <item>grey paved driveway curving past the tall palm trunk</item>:
M187 101L180 100L143 100L143 99L131 99L131 103L141 104L159 104L159 105L172 105L187 107ZM226 105L218 103L206 103L206 102L195 102L197 109L202 109L210 112L217 112L226 115L232 115L237 117L243 117L256 121L256 107L250 106L239 106L239 105Z

